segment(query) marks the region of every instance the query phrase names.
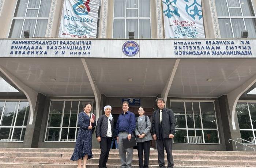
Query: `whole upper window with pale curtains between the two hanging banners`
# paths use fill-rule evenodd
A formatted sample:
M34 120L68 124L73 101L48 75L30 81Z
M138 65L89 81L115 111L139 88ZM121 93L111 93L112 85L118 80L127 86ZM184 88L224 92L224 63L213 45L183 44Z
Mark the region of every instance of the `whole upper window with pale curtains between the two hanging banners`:
M113 38L151 38L150 0L115 0Z

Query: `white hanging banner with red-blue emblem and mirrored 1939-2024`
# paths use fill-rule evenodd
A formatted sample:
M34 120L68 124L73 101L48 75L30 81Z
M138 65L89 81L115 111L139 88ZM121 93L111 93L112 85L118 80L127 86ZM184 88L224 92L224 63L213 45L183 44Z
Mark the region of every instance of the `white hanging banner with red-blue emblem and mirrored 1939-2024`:
M96 38L99 0L64 0L60 38Z

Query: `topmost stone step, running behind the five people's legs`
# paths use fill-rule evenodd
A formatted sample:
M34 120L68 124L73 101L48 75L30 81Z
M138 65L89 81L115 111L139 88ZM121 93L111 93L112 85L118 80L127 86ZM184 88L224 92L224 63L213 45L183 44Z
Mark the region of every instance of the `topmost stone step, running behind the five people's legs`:
M33 153L73 153L74 149L49 149L49 148L0 148L0 152L20 153L20 152L33 152ZM100 149L92 149L93 153L100 153ZM110 153L119 153L118 149L111 149ZM134 153L138 153L134 149ZM156 153L157 150L150 150L151 154ZM206 150L173 150L173 155L186 154L186 155L211 155L211 156L256 156L256 152L233 152L233 151L206 151Z

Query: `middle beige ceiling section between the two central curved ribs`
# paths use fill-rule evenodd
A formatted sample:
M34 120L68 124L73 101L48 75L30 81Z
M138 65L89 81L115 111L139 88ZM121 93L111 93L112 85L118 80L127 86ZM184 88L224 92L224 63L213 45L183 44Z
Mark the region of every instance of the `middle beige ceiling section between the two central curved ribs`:
M101 93L140 97L162 92L175 59L90 58L86 62ZM129 78L133 81L128 81Z

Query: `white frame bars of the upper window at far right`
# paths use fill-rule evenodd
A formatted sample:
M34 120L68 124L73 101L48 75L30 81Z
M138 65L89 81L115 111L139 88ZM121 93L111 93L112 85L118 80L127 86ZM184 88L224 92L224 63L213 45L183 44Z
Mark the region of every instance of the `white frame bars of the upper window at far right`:
M252 7L252 12L253 12L254 16L244 16L243 11L242 11L242 7L241 7L241 1L240 1L240 0L238 0L238 1L239 1L239 7L229 7L229 4L228 4L228 2L227 2L227 0L226 0L227 12L229 13L229 16L218 16L218 14L217 14L218 20L219 20L219 19L229 19L230 26L231 26L231 30L232 30L232 35L233 35L233 37L231 37L231 38L235 38L235 37L234 37L233 24L232 24L232 22L231 22L231 19L243 19L243 23L244 23L245 30L247 30L246 24L245 24L245 19L255 19L255 22L256 22L256 14L255 14L255 9L254 9L252 0L250 0L250 3L252 4L251 7ZM215 7L217 8L216 3L215 3ZM242 16L230 16L230 11L229 11L229 9L240 9ZM216 11L216 13L217 13L217 11ZM219 24L218 24L218 27L219 27ZM255 27L255 28L256 28L256 27ZM219 29L220 29L220 27L219 27ZM221 30L220 30L220 31L221 31Z

